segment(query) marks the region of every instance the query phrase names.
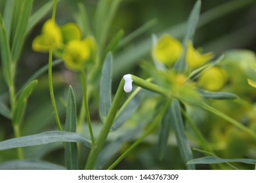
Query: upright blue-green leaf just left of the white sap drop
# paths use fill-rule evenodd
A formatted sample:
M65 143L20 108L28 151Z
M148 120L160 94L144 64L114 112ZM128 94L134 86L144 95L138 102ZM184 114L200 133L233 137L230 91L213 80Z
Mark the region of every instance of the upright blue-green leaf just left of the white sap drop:
M99 114L102 122L107 116L111 105L111 82L112 82L112 54L108 53L102 66L100 77L100 107Z

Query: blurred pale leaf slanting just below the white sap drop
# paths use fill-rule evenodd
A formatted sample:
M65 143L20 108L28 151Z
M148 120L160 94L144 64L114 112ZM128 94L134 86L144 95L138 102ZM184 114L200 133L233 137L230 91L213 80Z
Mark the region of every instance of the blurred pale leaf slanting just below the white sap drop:
M119 114L119 116L117 117L116 122L114 122L114 125L111 128L111 131L116 131L117 129L119 129L119 127L125 124L127 120L129 120L131 115L133 115L139 108L142 99L143 95L142 93L139 93L129 102L129 104L123 109L121 114Z

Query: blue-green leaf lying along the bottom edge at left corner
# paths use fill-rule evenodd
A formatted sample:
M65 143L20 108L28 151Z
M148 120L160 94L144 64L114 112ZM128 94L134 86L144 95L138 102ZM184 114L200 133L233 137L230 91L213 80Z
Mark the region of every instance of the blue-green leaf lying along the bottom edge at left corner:
M65 170L65 167L46 161L14 160L0 164L0 170Z

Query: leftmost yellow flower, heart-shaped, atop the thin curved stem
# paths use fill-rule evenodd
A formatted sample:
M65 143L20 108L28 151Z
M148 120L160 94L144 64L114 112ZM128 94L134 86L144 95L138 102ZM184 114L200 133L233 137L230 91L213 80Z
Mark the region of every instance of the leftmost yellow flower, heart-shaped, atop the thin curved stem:
M62 45L62 33L53 20L47 20L42 28L41 35L35 37L32 42L32 49L36 52L49 52Z

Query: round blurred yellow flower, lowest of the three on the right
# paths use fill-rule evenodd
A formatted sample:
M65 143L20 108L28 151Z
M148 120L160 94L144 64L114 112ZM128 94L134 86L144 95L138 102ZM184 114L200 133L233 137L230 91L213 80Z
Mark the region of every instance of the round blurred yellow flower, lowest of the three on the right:
M211 67L205 71L198 79L200 88L217 92L226 84L227 76L223 69L219 67Z

